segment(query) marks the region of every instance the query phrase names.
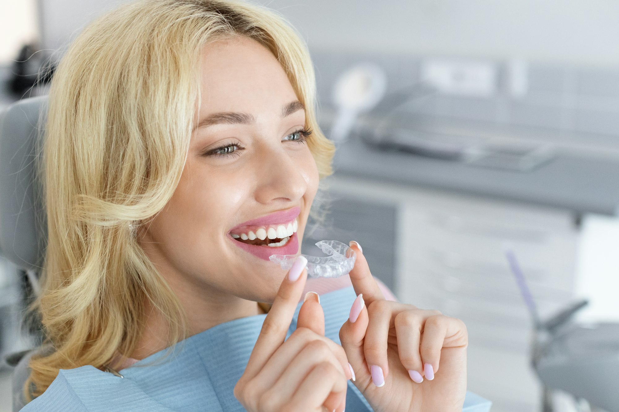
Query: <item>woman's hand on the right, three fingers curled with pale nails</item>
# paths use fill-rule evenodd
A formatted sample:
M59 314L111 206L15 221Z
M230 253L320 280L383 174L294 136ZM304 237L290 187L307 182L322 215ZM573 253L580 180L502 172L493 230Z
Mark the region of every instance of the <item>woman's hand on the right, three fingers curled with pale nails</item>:
M340 341L355 386L376 412L462 411L468 345L462 320L386 301L358 244L351 247L357 260L350 280L358 296Z

